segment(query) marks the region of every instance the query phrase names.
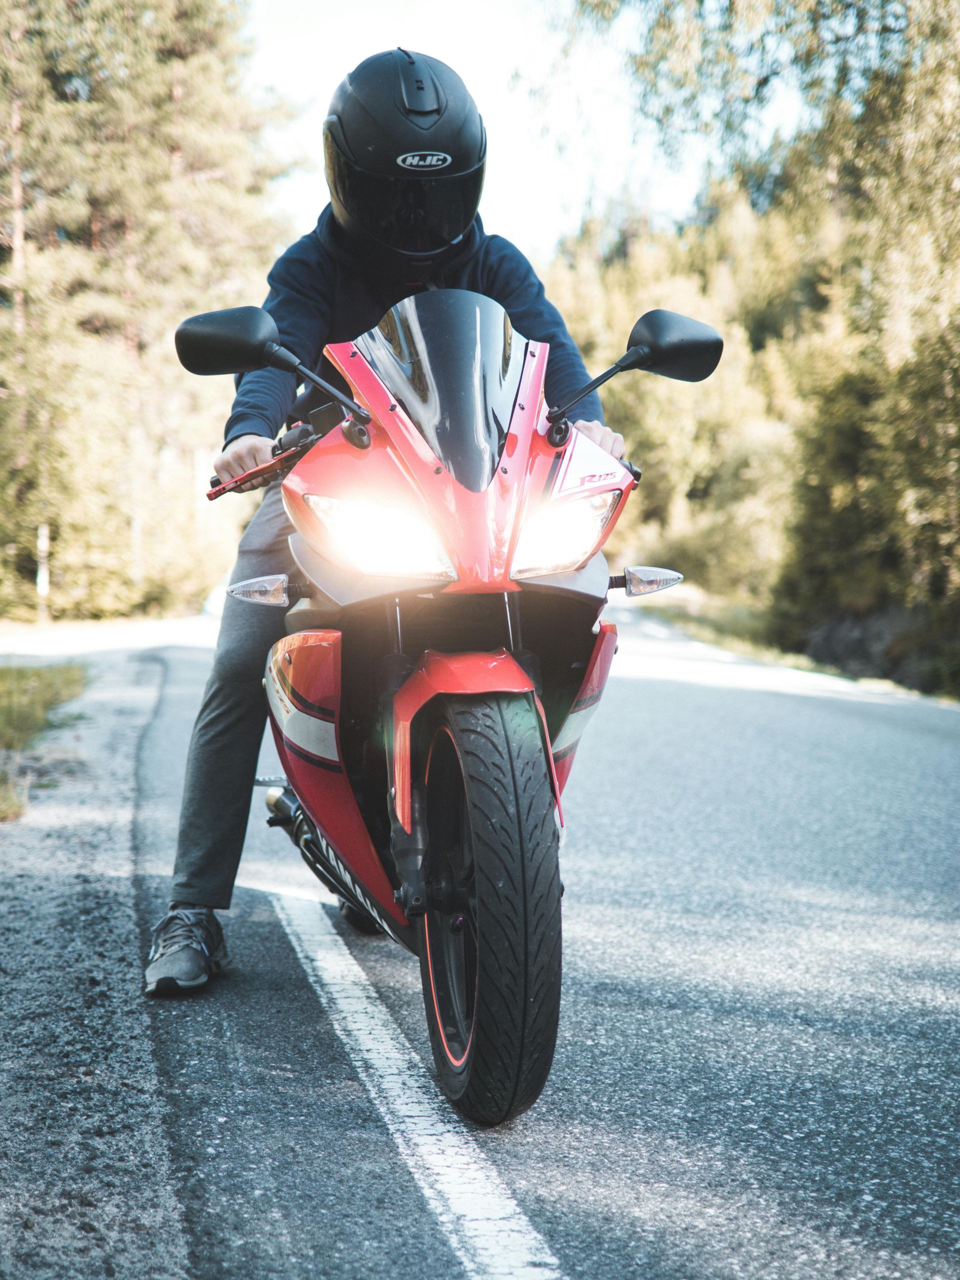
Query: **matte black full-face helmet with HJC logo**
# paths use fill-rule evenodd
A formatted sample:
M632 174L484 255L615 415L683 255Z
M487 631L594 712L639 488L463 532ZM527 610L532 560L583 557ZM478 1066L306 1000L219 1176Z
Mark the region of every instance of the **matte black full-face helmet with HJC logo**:
M337 225L398 265L429 265L476 216L486 133L456 72L393 49L333 95L324 160Z

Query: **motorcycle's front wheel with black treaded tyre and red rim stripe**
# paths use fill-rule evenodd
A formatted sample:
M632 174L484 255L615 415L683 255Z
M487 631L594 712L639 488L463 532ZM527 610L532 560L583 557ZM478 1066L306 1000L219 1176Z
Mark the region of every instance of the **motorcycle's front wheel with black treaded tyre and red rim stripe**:
M540 1096L559 1020L559 841L530 699L436 699L424 783L434 1062L465 1116L500 1124Z

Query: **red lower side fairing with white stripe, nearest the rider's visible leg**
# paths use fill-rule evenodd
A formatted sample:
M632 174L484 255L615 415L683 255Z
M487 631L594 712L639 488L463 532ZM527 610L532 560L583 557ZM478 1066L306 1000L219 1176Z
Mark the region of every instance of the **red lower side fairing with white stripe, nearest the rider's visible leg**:
M266 662L266 696L280 763L307 814L380 911L406 924L342 764L340 632L278 640Z

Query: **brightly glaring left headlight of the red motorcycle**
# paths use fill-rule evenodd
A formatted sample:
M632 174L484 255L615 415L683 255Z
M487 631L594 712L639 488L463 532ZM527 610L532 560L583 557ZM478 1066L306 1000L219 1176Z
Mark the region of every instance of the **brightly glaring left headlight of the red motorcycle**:
M324 554L335 564L378 577L456 581L435 530L421 516L372 502L303 494L324 531Z

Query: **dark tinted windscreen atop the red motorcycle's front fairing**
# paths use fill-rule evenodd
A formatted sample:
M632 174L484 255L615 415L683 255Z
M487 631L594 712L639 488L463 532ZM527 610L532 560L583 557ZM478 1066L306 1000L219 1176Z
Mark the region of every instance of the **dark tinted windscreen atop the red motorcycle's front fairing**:
M453 477L481 493L500 461L526 352L499 302L466 289L419 293L356 344Z

